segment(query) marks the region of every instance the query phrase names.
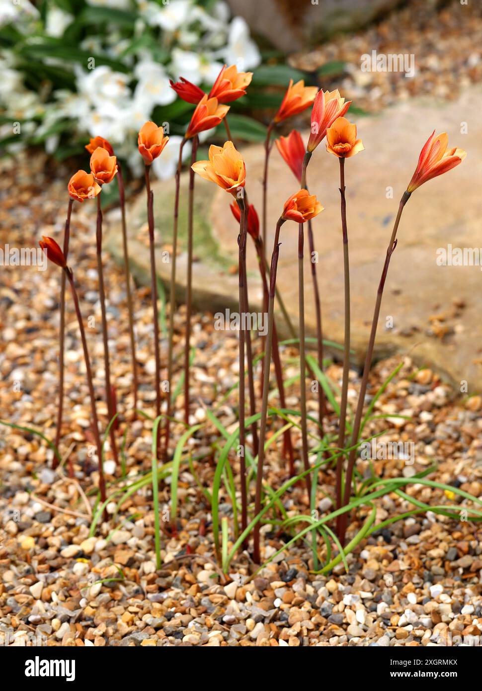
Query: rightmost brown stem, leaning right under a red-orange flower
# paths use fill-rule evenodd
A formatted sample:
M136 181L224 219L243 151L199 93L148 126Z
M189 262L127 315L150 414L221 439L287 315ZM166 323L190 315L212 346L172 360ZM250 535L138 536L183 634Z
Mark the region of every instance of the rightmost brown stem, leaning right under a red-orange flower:
M404 192L403 196L400 200L400 204L398 205L398 213L396 214L394 229L392 231L392 237L390 238L390 241L388 243L387 254L385 255L385 262L383 263L382 275L380 277L380 283L378 284L378 291L376 294L376 302L375 302L375 310L374 310L374 315L373 315L373 319L372 319L372 329L370 330L370 336L369 336L368 345L367 345L367 354L365 356L365 365L363 367L363 377L362 377L361 384L360 384L360 393L358 395L358 403L356 406L356 413L355 413L355 419L354 419L354 424L353 424L353 430L351 433L351 442L350 442L351 446L354 446L355 444L358 443L358 436L360 435L360 426L361 426L361 419L362 419L362 414L363 414L363 406L365 404L365 395L367 393L367 384L368 384L370 365L372 364L373 350L374 350L375 337L376 337L376 328L378 325L378 317L380 316L380 305L382 303L383 287L385 285L385 280L387 278L390 259L392 258L392 254L394 253L394 250L396 247L396 232L398 230L398 225L400 223L400 219L401 219L405 204L407 203L409 198L410 198L410 193ZM355 460L356 460L356 448L353 448L352 451L350 451L349 457L348 457L347 475L345 478L345 493L343 495L343 506L346 506L349 502L350 493L351 493L351 478L353 476L353 469L354 469L354 465L355 465ZM347 529L348 512L343 513L343 516L345 516L345 519L340 521L340 525L339 525L339 529L338 529L338 538L340 539L340 542L342 545L345 542L345 532Z

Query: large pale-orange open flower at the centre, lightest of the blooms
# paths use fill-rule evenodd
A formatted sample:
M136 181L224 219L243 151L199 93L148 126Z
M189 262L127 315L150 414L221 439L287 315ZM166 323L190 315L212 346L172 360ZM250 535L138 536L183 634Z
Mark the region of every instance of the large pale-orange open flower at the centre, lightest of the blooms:
M235 194L246 183L246 166L242 155L233 142L224 142L224 146L209 147L209 161L197 161L192 169L205 180L215 182L226 192Z

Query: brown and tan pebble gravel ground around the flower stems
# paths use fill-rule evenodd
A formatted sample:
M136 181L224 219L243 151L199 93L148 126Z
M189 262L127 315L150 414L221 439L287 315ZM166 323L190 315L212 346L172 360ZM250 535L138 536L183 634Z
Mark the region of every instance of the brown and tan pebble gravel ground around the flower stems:
M66 207L64 182L44 173L44 160L31 158L3 162L0 178L0 214L10 246L34 247L40 234L59 237ZM12 177L16 189L11 194ZM18 200L22 206L19 206ZM84 317L95 316L88 330L93 354L99 413L106 424L102 390L102 339L95 271L94 205L75 205L72 254ZM151 464L151 423L132 421L131 374L124 279L106 257L106 287L113 372L121 424L126 432L128 480L148 471ZM59 272L49 267L3 269L0 288L1 345L0 400L2 418L31 425L49 437L55 434L57 396L57 330ZM135 292L140 371L140 402L153 413L151 359L151 306L148 292ZM93 511L91 491L97 473L88 458L89 402L81 344L71 301L67 319L66 411L61 453L71 463L50 470L51 452L39 438L17 430L0 432L0 641L25 645L32 636L48 645L436 645L440 636L479 636L482 632L482 548L476 524L454 522L428 513L407 518L374 534L349 554L348 573L342 565L330 576L312 573L311 551L303 543L282 553L254 578L254 565L242 553L225 579L213 558L209 504L197 487L191 469L180 473L180 510L177 529L164 528L163 566L155 569L153 507L149 486L131 495L116 516L99 525L89 538ZM182 352L183 310L176 316L176 334ZM235 337L213 330L213 317L195 316L193 344L193 422L203 422L206 408L215 410L231 429L237 400L219 401L237 377L238 344ZM163 343L164 345L164 343ZM256 347L259 347L259 343ZM282 358L289 376L296 350L285 348ZM164 358L165 362L165 358ZM378 363L370 392L396 366ZM336 363L327 368L340 384ZM358 373L351 372L350 401L355 401ZM288 406L298 406L298 391L289 388ZM453 392L436 373L414 370L405 359L398 376L378 401L376 413L389 415L370 424L369 433L387 429L382 440L413 441L414 465L403 460L375 461L383 477L410 476L436 463L432 479L482 495L482 419L480 397L453 401ZM216 403L215 401L218 401ZM177 416L182 418L182 399ZM316 401L309 401L316 415ZM396 414L410 419L394 417ZM330 419L329 428L335 430ZM182 432L174 426L173 436ZM271 430L272 432L273 430ZM300 439L293 435L296 448ZM192 439L192 471L204 486L211 486L217 431L206 424ZM108 445L107 447L108 448ZM286 478L276 450L268 454L267 480L279 486ZM185 468L186 466L183 466ZM233 460L236 472L236 462ZM360 472L369 474L368 462ZM110 483L119 480L107 454ZM318 510L330 510L323 492L331 493L334 471L320 473ZM110 485L110 489L113 486ZM409 495L429 504L454 504L458 497L412 484ZM169 486L161 483L161 509L167 508ZM222 515L231 516L231 504L222 492ZM294 487L285 495L288 515L307 512L305 492ZM377 521L412 508L397 495L378 500ZM461 507L462 508L462 507ZM354 516L349 533L365 519L363 509ZM288 539L270 525L262 528L263 556L273 555ZM325 556L320 545L320 556ZM229 582L228 582L229 580Z

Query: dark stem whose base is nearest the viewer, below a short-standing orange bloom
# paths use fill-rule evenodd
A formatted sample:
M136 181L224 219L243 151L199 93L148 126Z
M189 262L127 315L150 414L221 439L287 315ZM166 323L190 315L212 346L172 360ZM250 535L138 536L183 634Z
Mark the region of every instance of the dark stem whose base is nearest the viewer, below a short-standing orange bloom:
M269 389L269 365L271 363L271 346L273 343L273 324L274 324L274 299L275 299L275 285L276 285L276 271L278 269L278 256L280 254L280 229L285 223L284 218L279 218L276 224L276 232L273 245L273 254L271 255L271 270L269 272L269 305L268 305L268 333L267 344L264 352L264 378L263 378L263 396L261 405L261 419L260 419L260 448L258 453L258 468L256 471L256 499L255 499L255 515L261 511L261 491L262 491L262 475L264 466L264 444L266 442L266 423L268 415L268 389ZM253 531L253 561L260 563L260 522L256 523Z

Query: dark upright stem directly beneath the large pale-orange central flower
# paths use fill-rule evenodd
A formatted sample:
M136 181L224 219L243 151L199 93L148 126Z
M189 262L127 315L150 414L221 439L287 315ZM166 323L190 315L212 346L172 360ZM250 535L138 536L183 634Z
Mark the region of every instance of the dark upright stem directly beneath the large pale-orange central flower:
M241 530L244 531L248 524L248 504L246 489L246 430L244 428L244 329L242 326L242 313L244 312L244 254L246 253L246 225L247 208L244 202L244 195L238 199L240 207L240 234L238 236L238 286L239 286L239 310L240 310L240 340L239 340L239 360L240 360L240 400L239 400L239 421L240 421L240 475L241 475Z

